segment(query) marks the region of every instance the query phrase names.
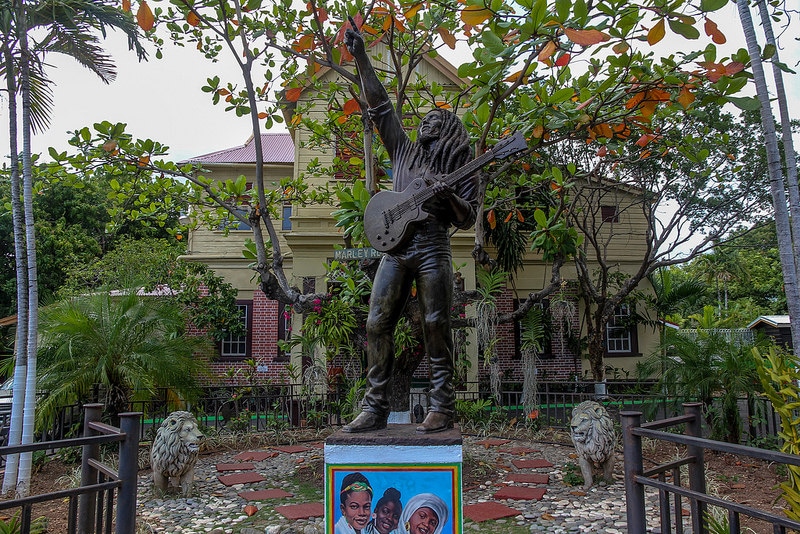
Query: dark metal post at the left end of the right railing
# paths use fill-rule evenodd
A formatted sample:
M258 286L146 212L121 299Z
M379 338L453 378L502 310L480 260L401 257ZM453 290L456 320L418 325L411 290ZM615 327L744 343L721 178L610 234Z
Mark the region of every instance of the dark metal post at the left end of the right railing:
M625 459L628 534L645 534L647 521L644 512L644 487L635 480L635 477L644 471L642 438L633 434L633 429L642 423L642 412L622 411L619 416L622 422L622 446Z

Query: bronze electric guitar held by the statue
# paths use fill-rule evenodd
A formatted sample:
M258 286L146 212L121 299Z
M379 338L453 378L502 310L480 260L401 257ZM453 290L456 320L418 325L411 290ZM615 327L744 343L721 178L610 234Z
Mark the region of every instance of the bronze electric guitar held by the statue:
M453 186L484 165L522 152L528 148L525 137L517 132L505 137L460 169L441 179ZM403 191L380 191L372 197L364 210L364 232L373 248L380 252L391 252L408 238L411 223L425 220L428 213L422 205L433 196L433 188L422 178L417 178Z

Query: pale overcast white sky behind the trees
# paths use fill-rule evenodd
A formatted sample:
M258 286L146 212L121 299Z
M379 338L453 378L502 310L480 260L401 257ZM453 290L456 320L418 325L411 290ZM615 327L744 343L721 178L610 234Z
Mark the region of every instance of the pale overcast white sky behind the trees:
M735 9L727 13L717 13L713 19L728 38L728 47L744 47L741 26ZM758 20L755 17L755 20ZM795 22L795 26L800 22ZM670 39L668 30L665 43ZM701 29L702 33L702 29ZM780 51L781 60L796 69L800 61L800 45L794 35L798 31L787 32L790 36L782 38L781 45L788 46ZM697 42L688 42L695 48ZM670 43L667 43L669 46ZM676 45L676 41L672 41ZM685 41L680 41L686 48ZM215 64L204 59L191 47L178 48L167 45L164 59L158 60L151 53L148 62L139 63L133 52L127 51L124 39L111 35L107 49L112 52L118 68L116 81L105 85L91 72L69 59L50 56L53 65L48 73L55 82L54 112L52 124L47 132L37 135L32 141L34 152L46 154L47 148L54 146L67 150L67 131L94 122L108 120L125 122L128 132L139 138L151 138L170 147L169 156L175 160L187 159L215 150L243 144L250 135L247 117L236 117L225 112L222 105L214 106L211 97L201 91L206 78L219 75L223 80L239 81L235 66L228 57ZM448 58L457 63L457 59ZM223 70L226 69L226 70ZM227 74L225 74L227 72ZM768 71L768 75L771 73ZM798 75L785 74L788 100L793 118L800 118L800 79ZM8 161L7 102L5 93L2 100L3 125L0 127L0 154ZM281 128L282 129L282 128Z

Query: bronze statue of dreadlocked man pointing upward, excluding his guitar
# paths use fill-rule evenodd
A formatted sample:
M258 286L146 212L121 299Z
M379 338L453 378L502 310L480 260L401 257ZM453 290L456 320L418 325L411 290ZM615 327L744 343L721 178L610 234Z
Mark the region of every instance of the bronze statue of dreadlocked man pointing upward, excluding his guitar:
M452 428L455 410L449 231L451 225L466 229L475 222L478 187L474 172L449 183L442 178L470 161L469 136L454 113L435 109L422 119L416 142L411 141L403 130L400 110L392 106L355 26L347 29L345 44L355 58L370 117L389 153L394 191L412 186L427 189L427 194L424 203L416 207L421 216L408 224L401 238L384 247L388 252L375 275L367 319L367 393L362 412L342 430L368 432L386 427L394 329L416 281L432 382L428 414L417 432L441 432ZM380 193L375 198L378 196ZM381 224L389 225L391 221L386 219ZM374 239L370 237L370 241Z

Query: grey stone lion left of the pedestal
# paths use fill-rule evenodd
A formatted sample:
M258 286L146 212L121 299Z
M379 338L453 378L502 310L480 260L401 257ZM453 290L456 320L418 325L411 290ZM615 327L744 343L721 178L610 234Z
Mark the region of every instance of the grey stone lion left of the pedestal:
M194 465L205 436L197 428L197 419L183 411L172 412L156 432L150 449L153 485L166 491L170 479L180 485L186 497L192 493Z

